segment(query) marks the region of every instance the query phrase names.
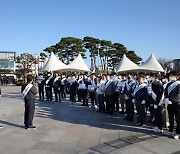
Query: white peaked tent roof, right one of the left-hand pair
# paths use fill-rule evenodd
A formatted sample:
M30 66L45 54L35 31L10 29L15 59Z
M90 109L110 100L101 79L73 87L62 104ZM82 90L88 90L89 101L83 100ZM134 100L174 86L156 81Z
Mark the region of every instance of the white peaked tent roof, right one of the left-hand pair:
M73 71L90 72L90 69L84 62L81 54L79 54L68 66L70 67L70 70Z

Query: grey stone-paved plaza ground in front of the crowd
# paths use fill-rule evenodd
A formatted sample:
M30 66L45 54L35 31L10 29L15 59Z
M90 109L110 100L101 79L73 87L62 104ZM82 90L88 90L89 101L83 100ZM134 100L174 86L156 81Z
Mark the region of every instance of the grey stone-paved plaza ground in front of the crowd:
M0 154L180 153L180 140L164 136L146 140L141 136L150 137L151 129L135 127L135 123L124 121L118 113L101 114L69 101L37 101L34 118L37 129L25 130L20 87L1 88Z

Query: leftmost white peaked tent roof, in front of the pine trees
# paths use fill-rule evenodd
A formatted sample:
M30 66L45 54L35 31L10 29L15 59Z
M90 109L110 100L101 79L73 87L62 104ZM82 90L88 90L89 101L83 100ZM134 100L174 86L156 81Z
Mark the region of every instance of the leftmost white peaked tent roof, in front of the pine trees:
M41 71L65 71L69 67L61 62L53 52L51 52L50 57Z

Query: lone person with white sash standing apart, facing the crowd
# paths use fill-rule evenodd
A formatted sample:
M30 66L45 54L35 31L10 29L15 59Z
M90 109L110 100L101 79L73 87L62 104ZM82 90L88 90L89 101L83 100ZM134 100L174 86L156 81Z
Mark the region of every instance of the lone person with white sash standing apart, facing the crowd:
M27 83L22 85L21 92L23 94L23 99L25 102L25 112L24 112L24 124L25 129L36 128L33 126L33 117L35 112L35 95L38 93L37 88L32 85L33 78L31 75L27 76Z

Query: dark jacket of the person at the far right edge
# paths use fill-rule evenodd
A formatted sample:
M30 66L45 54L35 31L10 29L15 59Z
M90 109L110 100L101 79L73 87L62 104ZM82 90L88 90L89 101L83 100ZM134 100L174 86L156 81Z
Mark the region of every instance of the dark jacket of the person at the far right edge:
M172 103L180 103L180 81L176 81L178 85L168 94L168 87L174 82L169 82L165 89L165 98L169 98Z

